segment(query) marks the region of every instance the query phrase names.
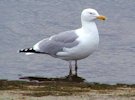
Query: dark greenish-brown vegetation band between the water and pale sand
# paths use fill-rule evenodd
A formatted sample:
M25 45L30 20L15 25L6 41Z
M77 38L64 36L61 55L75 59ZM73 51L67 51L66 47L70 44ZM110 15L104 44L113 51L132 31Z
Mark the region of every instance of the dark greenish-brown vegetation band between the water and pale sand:
M27 91L22 93L28 96L63 96L73 95L81 92L90 92L91 90L116 90L119 88L135 88L135 85L127 84L99 84L86 82L61 82L61 81L45 81L45 82L28 82L28 81L8 81L0 80L0 90L21 90Z

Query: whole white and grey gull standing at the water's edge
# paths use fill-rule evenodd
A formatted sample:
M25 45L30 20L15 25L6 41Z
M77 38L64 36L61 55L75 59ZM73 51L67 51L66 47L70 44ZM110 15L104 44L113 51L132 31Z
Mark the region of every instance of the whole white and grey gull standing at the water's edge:
M65 31L45 38L32 48L19 50L20 53L47 54L69 62L69 76L72 76L72 61L75 61L77 76L77 61L91 55L99 44L99 33L95 21L106 20L106 17L92 8L84 9L81 13L82 26L75 30Z

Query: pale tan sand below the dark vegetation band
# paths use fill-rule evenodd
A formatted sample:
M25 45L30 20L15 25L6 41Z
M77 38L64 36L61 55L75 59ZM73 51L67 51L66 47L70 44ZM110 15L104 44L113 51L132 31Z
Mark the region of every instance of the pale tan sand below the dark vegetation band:
M3 90L0 91L0 100L135 100L135 89L123 88L117 90L91 90L72 96L25 96L28 91ZM29 91L31 92L31 91Z

